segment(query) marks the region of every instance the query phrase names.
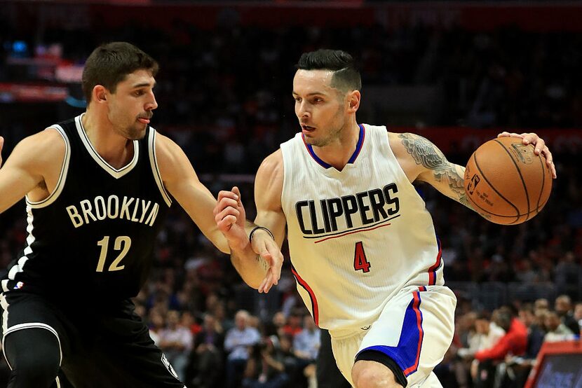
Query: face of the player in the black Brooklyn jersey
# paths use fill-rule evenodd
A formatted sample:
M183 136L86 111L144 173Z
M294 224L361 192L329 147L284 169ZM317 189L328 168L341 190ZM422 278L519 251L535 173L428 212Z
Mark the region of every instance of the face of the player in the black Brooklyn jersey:
M139 69L118 83L115 93L109 93L107 117L123 137L131 140L144 137L153 111L158 107L154 85L156 80L149 71Z

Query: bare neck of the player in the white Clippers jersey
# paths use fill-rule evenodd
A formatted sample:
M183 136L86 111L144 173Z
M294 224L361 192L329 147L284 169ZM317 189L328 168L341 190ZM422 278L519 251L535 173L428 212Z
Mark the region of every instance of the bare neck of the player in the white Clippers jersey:
M360 127L354 121L344 128L339 137L332 140L330 144L323 147L313 146L313 151L321 160L341 171L348 164L353 152L356 151L359 138Z

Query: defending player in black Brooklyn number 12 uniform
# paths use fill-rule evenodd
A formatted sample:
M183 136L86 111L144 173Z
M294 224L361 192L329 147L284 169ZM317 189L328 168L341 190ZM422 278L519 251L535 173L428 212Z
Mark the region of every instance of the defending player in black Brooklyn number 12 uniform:
M26 247L1 279L8 387L60 387L60 370L76 388L184 387L129 298L174 200L230 248L215 198L182 149L149 126L157 70L129 43L95 49L83 70L86 113L22 140L0 169L0 212L26 195L28 223ZM283 257L255 231L245 249L272 266L266 292Z

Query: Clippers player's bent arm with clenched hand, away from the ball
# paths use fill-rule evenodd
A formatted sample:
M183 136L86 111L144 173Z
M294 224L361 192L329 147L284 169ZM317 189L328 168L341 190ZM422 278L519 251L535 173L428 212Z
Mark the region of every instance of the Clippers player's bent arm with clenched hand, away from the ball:
M215 219L229 240L231 261L245 283L259 292L268 292L273 284L277 284L283 264L280 247L285 238L286 219L281 206L282 192L283 153L279 150L263 160L255 176L255 223L248 222L242 230L239 213L243 211L243 206L238 190L236 196L233 191L221 191L218 195ZM262 226L273 233L278 251L267 246L269 241L271 244L273 242L264 230L257 230L249 241L248 233L255 226ZM249 245L252 245L252 250L248 249Z

